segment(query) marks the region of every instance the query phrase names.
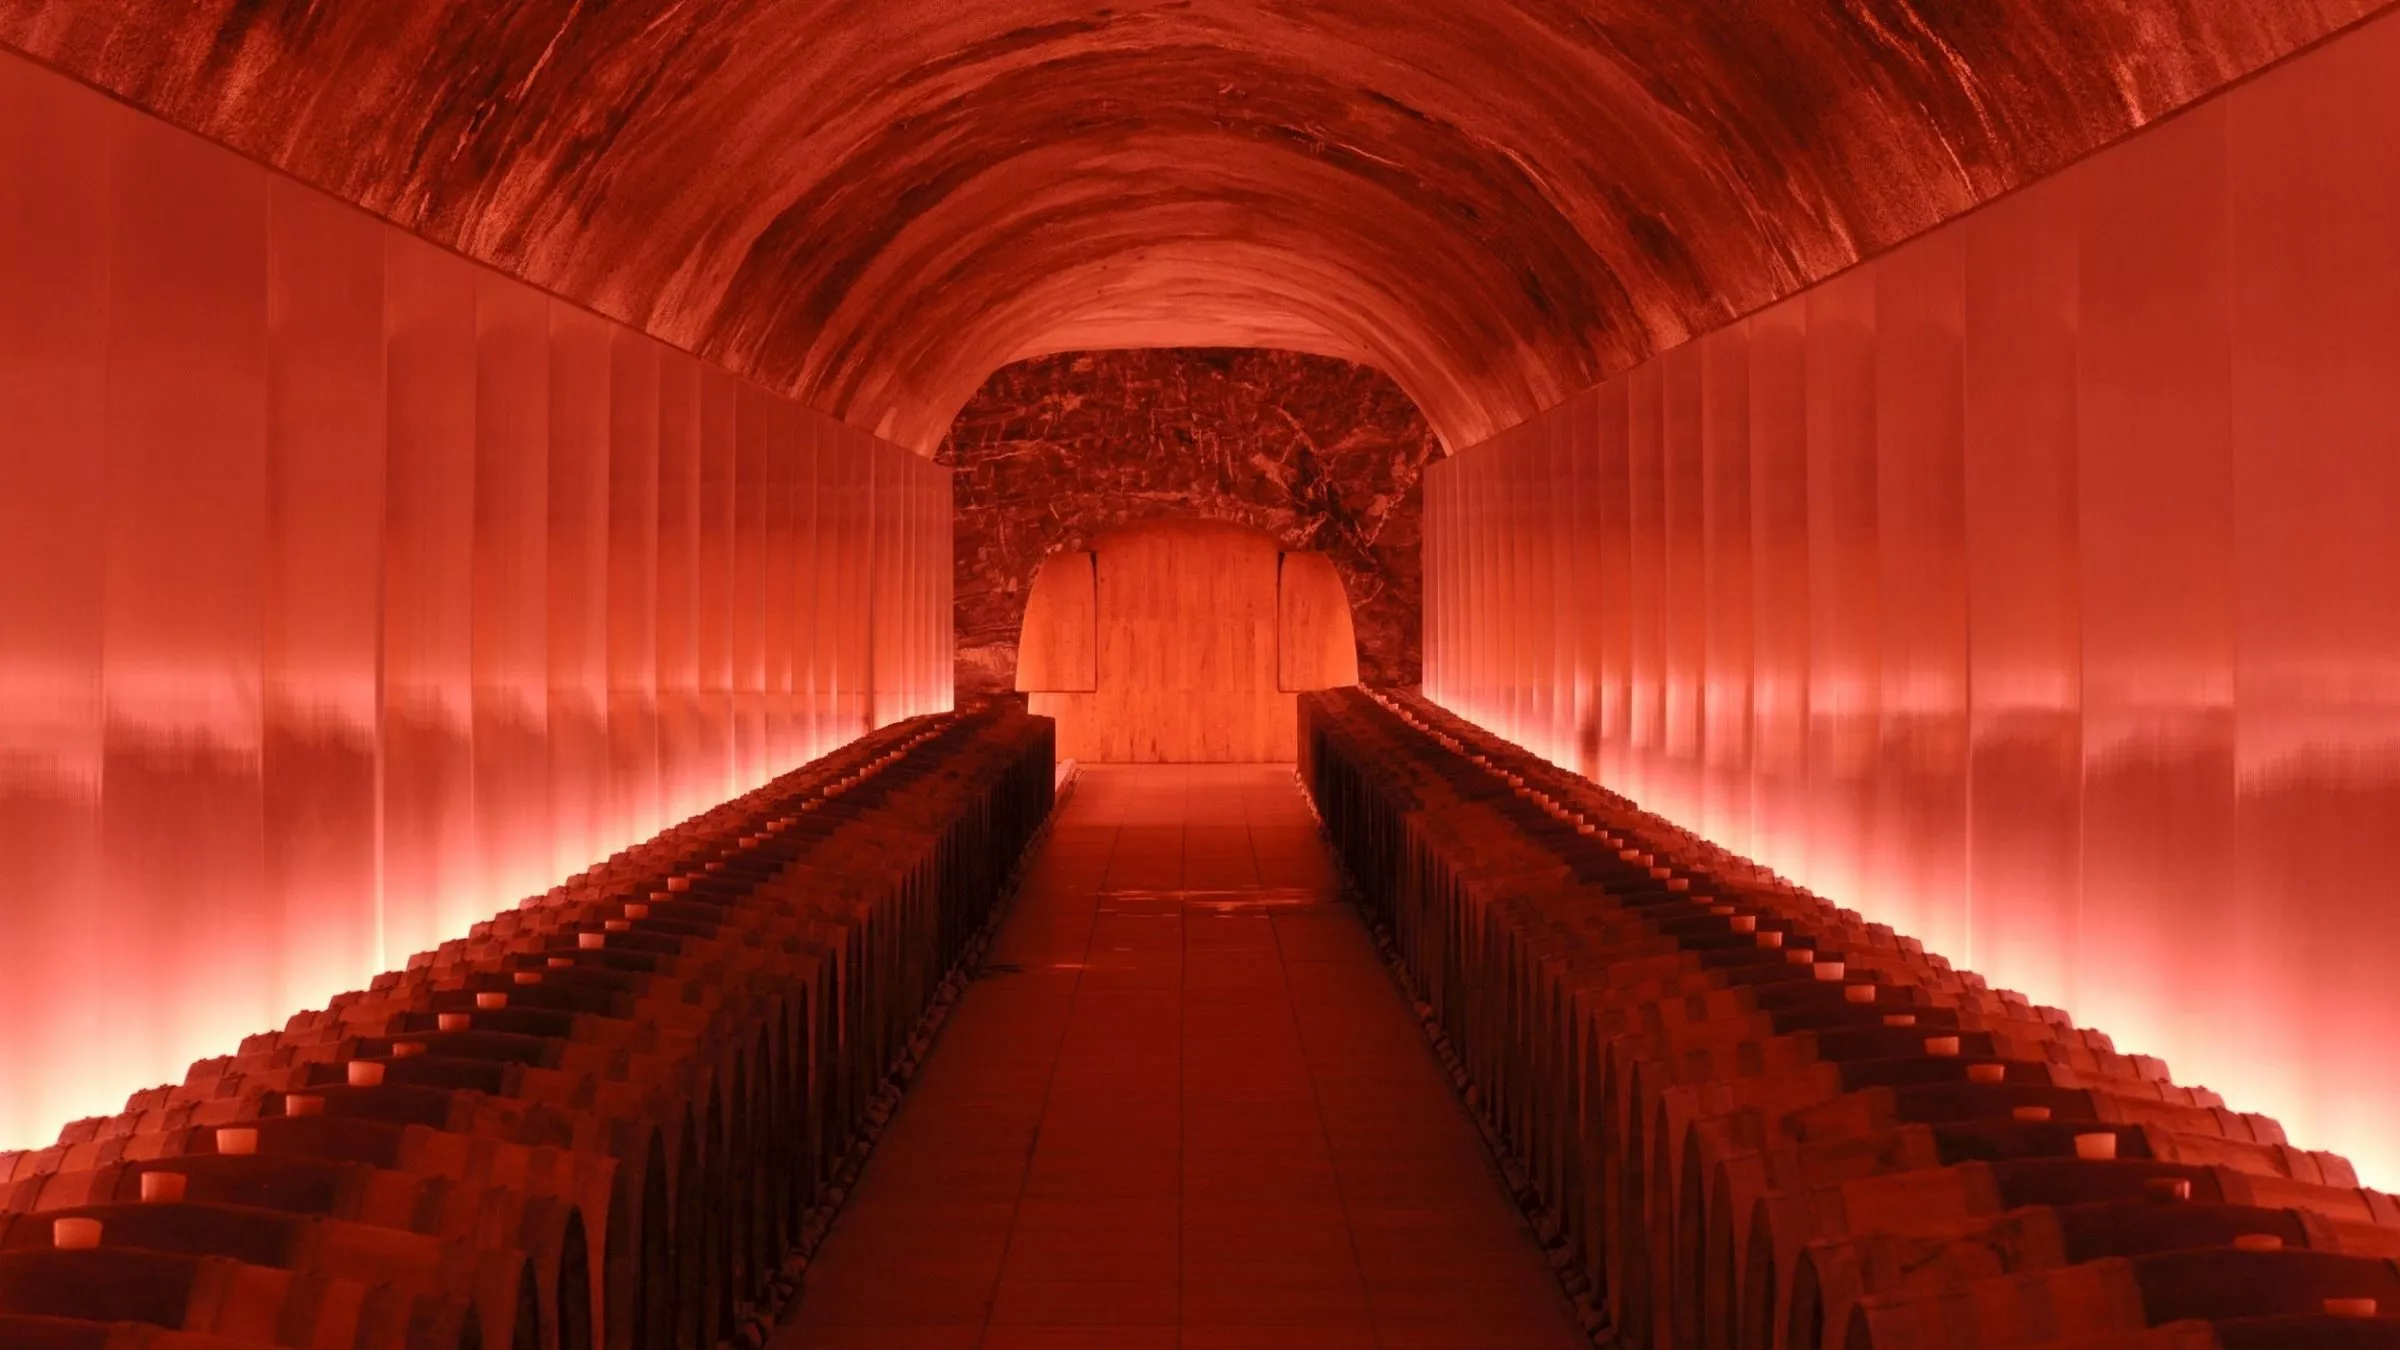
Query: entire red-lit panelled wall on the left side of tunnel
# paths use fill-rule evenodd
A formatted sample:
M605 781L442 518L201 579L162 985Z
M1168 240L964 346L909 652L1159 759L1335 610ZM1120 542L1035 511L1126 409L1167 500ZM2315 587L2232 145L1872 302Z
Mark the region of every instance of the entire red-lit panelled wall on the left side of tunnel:
M948 706L948 471L5 53L0 185L0 1146Z

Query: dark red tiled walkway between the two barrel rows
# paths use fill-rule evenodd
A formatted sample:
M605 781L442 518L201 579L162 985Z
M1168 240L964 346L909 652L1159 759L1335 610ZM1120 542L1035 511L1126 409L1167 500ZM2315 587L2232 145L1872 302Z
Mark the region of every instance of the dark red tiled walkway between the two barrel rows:
M1289 766L1094 766L780 1350L1572 1348Z

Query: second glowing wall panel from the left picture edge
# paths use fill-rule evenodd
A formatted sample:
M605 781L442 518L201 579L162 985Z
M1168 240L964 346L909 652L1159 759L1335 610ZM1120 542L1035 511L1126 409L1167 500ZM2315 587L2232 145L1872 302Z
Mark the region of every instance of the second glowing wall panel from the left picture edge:
M108 127L101 990L132 1055L271 1016L259 778L266 178L163 123Z

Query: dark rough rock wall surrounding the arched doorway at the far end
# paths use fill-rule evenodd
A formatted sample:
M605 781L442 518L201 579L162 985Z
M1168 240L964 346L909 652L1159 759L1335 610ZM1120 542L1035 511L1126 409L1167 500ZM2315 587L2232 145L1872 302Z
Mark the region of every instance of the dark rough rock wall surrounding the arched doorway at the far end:
M996 372L941 447L958 471L958 692L1013 687L1042 560L1207 516L1332 557L1358 677L1418 677L1433 430L1380 370L1291 351L1085 351Z

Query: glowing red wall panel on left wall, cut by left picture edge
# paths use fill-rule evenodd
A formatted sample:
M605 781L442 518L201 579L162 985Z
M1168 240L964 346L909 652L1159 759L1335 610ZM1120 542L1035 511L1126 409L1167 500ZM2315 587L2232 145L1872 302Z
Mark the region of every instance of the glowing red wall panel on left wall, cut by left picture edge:
M0 60L0 1136L106 1100L101 579L113 108ZM53 896L82 896L55 903ZM29 903L38 898L41 903ZM14 954L29 954L17 958Z

